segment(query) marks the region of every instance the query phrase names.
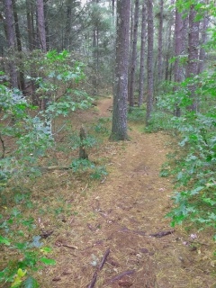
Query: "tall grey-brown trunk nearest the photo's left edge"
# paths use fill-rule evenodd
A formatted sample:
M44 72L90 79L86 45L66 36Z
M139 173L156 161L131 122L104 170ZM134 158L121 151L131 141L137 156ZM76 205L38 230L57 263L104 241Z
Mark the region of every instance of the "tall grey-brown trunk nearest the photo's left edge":
M12 0L4 0L4 14L6 23L6 38L9 49L9 71L10 82L12 87L18 87L17 73L14 64L14 52L15 52L15 35L14 35L14 17L13 17L13 5Z

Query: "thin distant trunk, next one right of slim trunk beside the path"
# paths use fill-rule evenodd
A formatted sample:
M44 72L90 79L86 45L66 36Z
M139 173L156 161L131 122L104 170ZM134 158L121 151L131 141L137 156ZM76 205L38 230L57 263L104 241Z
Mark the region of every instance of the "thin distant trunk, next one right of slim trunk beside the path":
M158 83L162 81L163 64L162 64L162 49L163 49L163 19L164 19L164 0L160 0L160 15L158 27Z

